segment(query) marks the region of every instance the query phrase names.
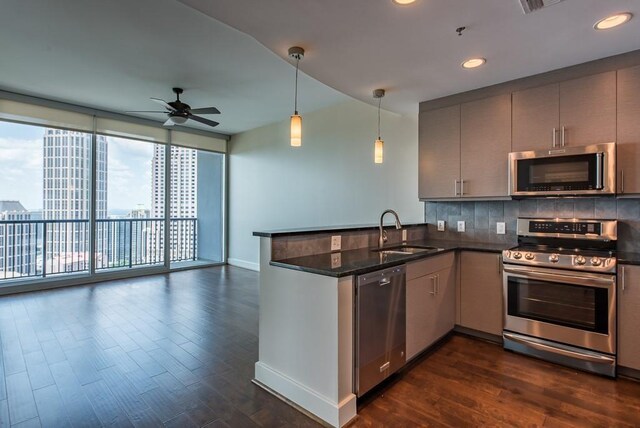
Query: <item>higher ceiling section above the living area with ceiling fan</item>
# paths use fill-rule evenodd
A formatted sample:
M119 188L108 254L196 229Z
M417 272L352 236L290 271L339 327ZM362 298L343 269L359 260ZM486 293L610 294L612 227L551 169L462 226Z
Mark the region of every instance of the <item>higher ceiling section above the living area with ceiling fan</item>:
M295 69L252 37L175 0L3 0L0 89L124 112L174 86L234 134L293 113ZM300 76L300 110L348 97ZM160 109L161 110L161 109ZM164 122L164 115L139 115ZM191 122L188 122L188 124Z

